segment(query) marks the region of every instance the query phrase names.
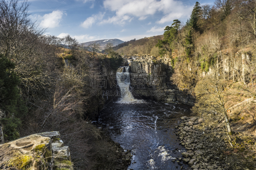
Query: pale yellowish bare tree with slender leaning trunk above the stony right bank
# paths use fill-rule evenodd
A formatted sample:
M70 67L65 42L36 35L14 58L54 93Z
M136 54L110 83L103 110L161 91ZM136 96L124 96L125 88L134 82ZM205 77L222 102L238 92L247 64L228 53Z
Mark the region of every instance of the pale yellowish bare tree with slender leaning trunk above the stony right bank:
M234 100L232 93L228 92L227 82L218 78L218 70L212 70L212 74L199 81L195 88L197 96L196 105L193 107L195 113L208 117L214 121L215 118L224 117L227 136L231 144L232 129L228 120L227 103ZM231 144L232 146L232 144Z

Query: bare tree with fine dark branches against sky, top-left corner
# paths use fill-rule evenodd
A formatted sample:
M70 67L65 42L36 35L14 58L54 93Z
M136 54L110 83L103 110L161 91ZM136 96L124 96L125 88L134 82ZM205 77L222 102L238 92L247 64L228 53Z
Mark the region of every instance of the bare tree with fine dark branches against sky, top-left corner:
M27 1L19 3L19 0L0 0L0 42L1 52L5 56L21 55L22 49L25 52L21 57L26 57L35 45L30 42L36 41L44 33L43 29L37 29L30 20L28 7Z

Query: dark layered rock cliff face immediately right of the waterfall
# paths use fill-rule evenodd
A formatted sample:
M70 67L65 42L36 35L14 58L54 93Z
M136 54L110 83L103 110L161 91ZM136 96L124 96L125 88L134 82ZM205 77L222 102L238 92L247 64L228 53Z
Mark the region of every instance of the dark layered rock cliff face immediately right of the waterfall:
M130 66L131 88L135 96L163 102L194 105L195 98L172 85L172 61L169 57L157 60L154 56L123 56Z

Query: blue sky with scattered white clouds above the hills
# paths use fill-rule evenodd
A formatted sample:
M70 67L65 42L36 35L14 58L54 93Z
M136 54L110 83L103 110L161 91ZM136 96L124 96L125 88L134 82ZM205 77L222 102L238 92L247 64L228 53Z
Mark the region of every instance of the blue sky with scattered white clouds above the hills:
M186 23L195 0L28 0L30 18L45 34L70 35L79 43L130 41L162 35L174 19ZM198 1L213 5L214 1Z

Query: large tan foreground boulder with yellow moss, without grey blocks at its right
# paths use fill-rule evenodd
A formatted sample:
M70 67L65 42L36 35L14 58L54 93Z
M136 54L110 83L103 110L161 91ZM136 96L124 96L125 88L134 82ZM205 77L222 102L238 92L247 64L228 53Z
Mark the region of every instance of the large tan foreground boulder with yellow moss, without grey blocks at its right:
M43 158L44 164L37 157ZM0 158L1 169L30 169L31 161L35 161L39 169L48 166L52 170L52 140L37 134L19 138L0 145Z

